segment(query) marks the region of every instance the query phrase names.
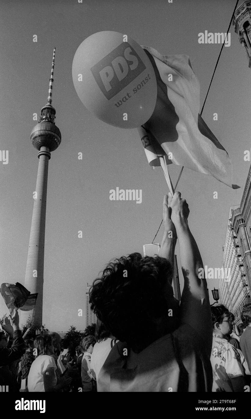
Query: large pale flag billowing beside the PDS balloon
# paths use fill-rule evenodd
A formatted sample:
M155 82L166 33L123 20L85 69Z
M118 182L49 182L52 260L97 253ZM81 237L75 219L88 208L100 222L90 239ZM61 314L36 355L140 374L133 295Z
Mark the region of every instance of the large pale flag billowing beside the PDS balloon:
M232 187L231 159L199 114L200 84L187 55L162 56L143 47L157 79L157 101L138 132L150 166L177 164L214 176Z

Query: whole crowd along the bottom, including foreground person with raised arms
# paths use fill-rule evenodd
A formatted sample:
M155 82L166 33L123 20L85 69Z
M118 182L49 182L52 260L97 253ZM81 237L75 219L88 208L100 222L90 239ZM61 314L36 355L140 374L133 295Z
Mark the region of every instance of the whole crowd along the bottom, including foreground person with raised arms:
M224 305L210 307L188 215L180 192L164 197L159 255L132 253L106 266L90 290L95 336L76 347L56 332L22 336L17 310L5 318L0 385L29 392L250 391L251 303L238 325ZM171 285L177 241L180 303Z

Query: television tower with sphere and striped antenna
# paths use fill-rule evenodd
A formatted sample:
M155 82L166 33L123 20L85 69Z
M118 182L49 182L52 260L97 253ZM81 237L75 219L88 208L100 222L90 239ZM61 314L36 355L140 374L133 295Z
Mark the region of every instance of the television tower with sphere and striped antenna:
M41 109L41 116L38 120L38 124L33 128L30 134L30 140L33 146L39 151L39 162L35 196L33 197L34 204L24 285L31 294L38 293L33 320L39 326L42 325L43 315L43 261L48 163L51 158L51 151L56 150L61 143L61 132L55 125L56 110L51 105L54 64L55 48L53 51L47 103L46 106L43 106ZM20 323L24 325L30 315L32 315L32 311L23 311Z

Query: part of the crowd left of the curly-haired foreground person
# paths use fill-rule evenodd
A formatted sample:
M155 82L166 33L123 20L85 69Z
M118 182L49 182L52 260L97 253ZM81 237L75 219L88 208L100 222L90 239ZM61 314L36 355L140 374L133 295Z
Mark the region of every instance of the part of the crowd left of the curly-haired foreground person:
M9 392L97 391L99 371L117 342L99 320L95 336L84 337L76 347L56 332L26 339L17 310L5 318L3 328L0 385L8 386Z

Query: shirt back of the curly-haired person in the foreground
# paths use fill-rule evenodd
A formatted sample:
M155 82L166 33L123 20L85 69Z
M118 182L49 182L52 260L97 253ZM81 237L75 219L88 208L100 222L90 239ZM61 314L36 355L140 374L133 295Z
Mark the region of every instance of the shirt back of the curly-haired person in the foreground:
M210 350L188 324L138 354L123 342L110 351L99 372L99 392L210 392Z

